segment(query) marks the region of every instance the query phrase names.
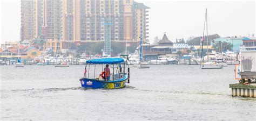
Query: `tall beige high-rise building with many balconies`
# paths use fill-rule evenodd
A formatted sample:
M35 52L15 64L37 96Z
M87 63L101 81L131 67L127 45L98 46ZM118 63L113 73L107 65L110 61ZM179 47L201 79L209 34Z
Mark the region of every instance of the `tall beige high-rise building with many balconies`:
M149 41L147 9L133 0L21 0L21 40L44 36L44 49L67 51L69 45L104 41L104 22L111 20L111 41L138 44L140 30Z

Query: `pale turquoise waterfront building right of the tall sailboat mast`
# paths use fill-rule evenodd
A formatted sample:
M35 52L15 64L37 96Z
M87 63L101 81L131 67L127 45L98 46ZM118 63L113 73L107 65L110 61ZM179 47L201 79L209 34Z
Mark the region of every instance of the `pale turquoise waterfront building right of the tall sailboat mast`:
M240 46L242 45L242 38L237 38L237 37L227 37L227 38L217 38L214 39L214 43L218 45L219 42L227 42L229 44L232 44L232 50L229 51L234 51L234 52L239 52L240 51ZM211 45L214 44L211 42Z

